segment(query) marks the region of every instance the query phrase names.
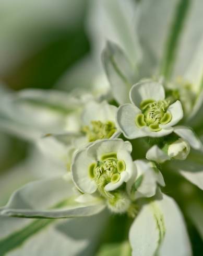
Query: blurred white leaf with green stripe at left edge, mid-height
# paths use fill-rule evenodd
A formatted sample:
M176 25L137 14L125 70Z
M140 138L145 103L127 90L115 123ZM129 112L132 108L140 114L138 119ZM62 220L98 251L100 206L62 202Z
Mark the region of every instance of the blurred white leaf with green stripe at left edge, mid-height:
M67 115L79 107L79 99L60 91L5 92L0 95L0 127L33 140L44 133L63 131L67 126Z

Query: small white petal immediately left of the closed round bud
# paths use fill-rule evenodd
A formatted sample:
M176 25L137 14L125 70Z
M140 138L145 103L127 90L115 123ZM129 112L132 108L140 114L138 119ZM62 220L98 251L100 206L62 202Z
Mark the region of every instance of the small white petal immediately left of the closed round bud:
M160 164L165 162L166 160L170 160L170 157L163 152L157 145L152 146L147 154L146 158L151 161L156 161Z

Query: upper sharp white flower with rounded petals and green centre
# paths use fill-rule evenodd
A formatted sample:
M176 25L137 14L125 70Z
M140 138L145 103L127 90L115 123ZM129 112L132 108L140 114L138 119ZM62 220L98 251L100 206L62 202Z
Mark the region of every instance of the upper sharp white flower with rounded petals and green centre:
M118 108L117 123L127 138L162 137L173 132L183 118L180 101L165 99L161 84L144 81L135 84L129 92L132 104Z

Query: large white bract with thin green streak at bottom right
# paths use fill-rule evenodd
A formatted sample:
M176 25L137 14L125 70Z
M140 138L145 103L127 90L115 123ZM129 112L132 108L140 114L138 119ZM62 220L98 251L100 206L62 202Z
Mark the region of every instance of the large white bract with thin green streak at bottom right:
M183 216L175 201L166 195L143 206L130 227L133 256L191 256L192 250Z

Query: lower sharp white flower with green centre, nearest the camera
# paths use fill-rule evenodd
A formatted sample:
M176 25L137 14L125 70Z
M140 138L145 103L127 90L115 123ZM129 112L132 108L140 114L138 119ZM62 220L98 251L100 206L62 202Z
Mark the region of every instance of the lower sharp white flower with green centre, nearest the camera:
M83 193L119 188L134 172L130 156L132 145L122 139L103 139L76 152L71 172L76 187Z

